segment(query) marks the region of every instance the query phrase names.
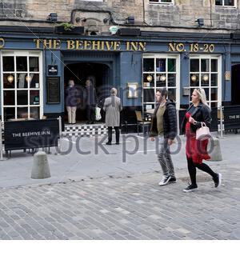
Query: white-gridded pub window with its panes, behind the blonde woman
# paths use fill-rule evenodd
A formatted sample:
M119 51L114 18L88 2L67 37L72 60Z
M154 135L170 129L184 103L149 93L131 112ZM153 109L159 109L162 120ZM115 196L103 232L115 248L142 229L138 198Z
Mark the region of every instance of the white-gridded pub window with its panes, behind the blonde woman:
M221 67L218 56L190 56L190 95L195 88L203 88L210 107L221 104Z

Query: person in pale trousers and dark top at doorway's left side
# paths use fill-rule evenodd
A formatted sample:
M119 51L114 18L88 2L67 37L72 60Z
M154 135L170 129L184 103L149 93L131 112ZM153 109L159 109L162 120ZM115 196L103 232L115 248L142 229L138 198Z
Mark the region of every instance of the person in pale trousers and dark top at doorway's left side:
M68 114L68 123L76 123L76 110L80 95L78 89L74 85L74 80L69 80L68 87L66 88L66 110Z

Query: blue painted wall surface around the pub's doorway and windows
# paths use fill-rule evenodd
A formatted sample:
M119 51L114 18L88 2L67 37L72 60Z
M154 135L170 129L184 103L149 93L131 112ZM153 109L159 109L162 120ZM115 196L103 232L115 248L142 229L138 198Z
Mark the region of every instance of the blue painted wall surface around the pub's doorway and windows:
M194 34L193 34L194 35ZM24 34L0 34L5 38L5 47L2 50L37 50L33 42L34 36ZM47 35L46 38L51 38ZM80 38L77 38L80 39ZM145 53L171 54L168 43L171 38L85 38L85 39L103 39L103 40L121 40L124 41L142 41L146 42ZM185 42L184 42L185 41ZM199 44L204 44L207 38L199 39ZM189 86L189 58L186 53L189 52L190 42L193 40L176 40L175 42L184 42L186 52L180 53L180 104L188 104L189 98L182 96L182 87ZM215 50L212 54L222 55L222 101L231 100L231 81L226 81L225 72L231 70L231 66L240 63L240 45L230 42L210 41L215 44ZM173 54L179 54L174 52ZM202 50L197 54L206 54ZM210 54L210 53L208 53ZM64 64L70 62L99 62L106 64L109 70L106 71L106 86L115 86L122 98L123 106L142 106L142 52L126 51L122 47L121 52L110 51L70 51L70 50L42 50L43 60L43 102L45 113L60 113L64 111ZM0 63L1 64L1 63ZM61 83L61 101L59 104L46 104L46 76L48 65L58 65L58 76ZM127 98L127 83L138 82L138 98ZM2 86L2 85L0 85ZM2 102L0 102L1 104ZM1 114L1 108L0 108Z

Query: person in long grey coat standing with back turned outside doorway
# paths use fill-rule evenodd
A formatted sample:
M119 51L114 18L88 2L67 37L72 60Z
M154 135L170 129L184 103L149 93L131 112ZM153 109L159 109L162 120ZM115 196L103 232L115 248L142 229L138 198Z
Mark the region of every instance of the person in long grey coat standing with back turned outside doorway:
M116 144L119 144L119 126L120 112L122 111L121 99L117 97L117 89L110 90L110 97L105 99L103 110L106 112L106 126L108 129L108 142L106 145L112 144L113 126L116 134Z

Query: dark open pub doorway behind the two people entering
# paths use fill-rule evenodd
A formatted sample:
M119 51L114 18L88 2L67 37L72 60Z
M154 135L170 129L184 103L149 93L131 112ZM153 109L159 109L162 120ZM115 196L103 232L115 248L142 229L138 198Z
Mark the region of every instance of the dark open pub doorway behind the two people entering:
M109 95L113 76L110 67L97 62L74 62L67 64L64 68L64 88L69 80L74 80L80 94L80 104L76 111L76 122L86 123L86 79L91 79L96 90L97 104L102 107L104 99ZM104 121L104 113L102 113ZM65 122L67 123L67 112L65 107Z

